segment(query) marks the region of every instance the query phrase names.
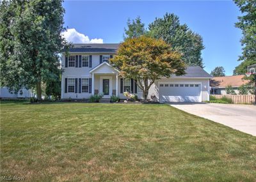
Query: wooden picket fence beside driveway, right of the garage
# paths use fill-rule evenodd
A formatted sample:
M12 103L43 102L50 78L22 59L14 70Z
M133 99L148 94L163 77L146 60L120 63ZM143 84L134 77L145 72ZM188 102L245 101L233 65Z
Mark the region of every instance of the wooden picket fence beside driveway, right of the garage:
M223 96L227 98L231 98L233 103L254 103L255 96L254 95L211 95L218 99L222 98Z

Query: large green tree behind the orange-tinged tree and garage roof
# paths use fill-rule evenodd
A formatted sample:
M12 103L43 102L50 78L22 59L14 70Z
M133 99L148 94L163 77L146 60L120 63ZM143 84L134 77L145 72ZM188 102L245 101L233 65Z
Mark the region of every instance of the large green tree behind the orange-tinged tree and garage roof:
M179 17L166 13L163 18L156 18L148 25L150 35L163 39L172 45L173 50L182 54L182 60L189 66L203 67L201 52L204 49L202 37L189 29L186 24L180 24Z

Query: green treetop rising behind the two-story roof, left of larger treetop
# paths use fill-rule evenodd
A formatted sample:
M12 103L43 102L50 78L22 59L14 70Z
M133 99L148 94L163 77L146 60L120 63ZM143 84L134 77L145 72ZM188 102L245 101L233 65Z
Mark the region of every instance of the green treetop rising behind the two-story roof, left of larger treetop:
M141 22L140 17L137 17L135 20L128 19L127 29L124 29L124 40L126 38L135 38L139 37L147 32L145 25Z

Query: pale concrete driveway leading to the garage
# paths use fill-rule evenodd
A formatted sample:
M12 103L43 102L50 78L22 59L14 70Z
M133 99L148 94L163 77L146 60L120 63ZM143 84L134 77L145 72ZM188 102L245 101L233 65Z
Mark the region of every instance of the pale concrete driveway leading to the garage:
M170 103L202 118L229 126L256 136L256 106L221 103Z

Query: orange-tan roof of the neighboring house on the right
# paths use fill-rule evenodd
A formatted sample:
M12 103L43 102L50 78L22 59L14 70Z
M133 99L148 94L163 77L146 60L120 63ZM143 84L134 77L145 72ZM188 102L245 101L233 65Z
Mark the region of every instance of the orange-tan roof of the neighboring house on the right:
M227 77L212 77L210 80L211 87L224 88L227 86L239 87L243 84L247 84L249 80L243 80L244 75L234 75Z

